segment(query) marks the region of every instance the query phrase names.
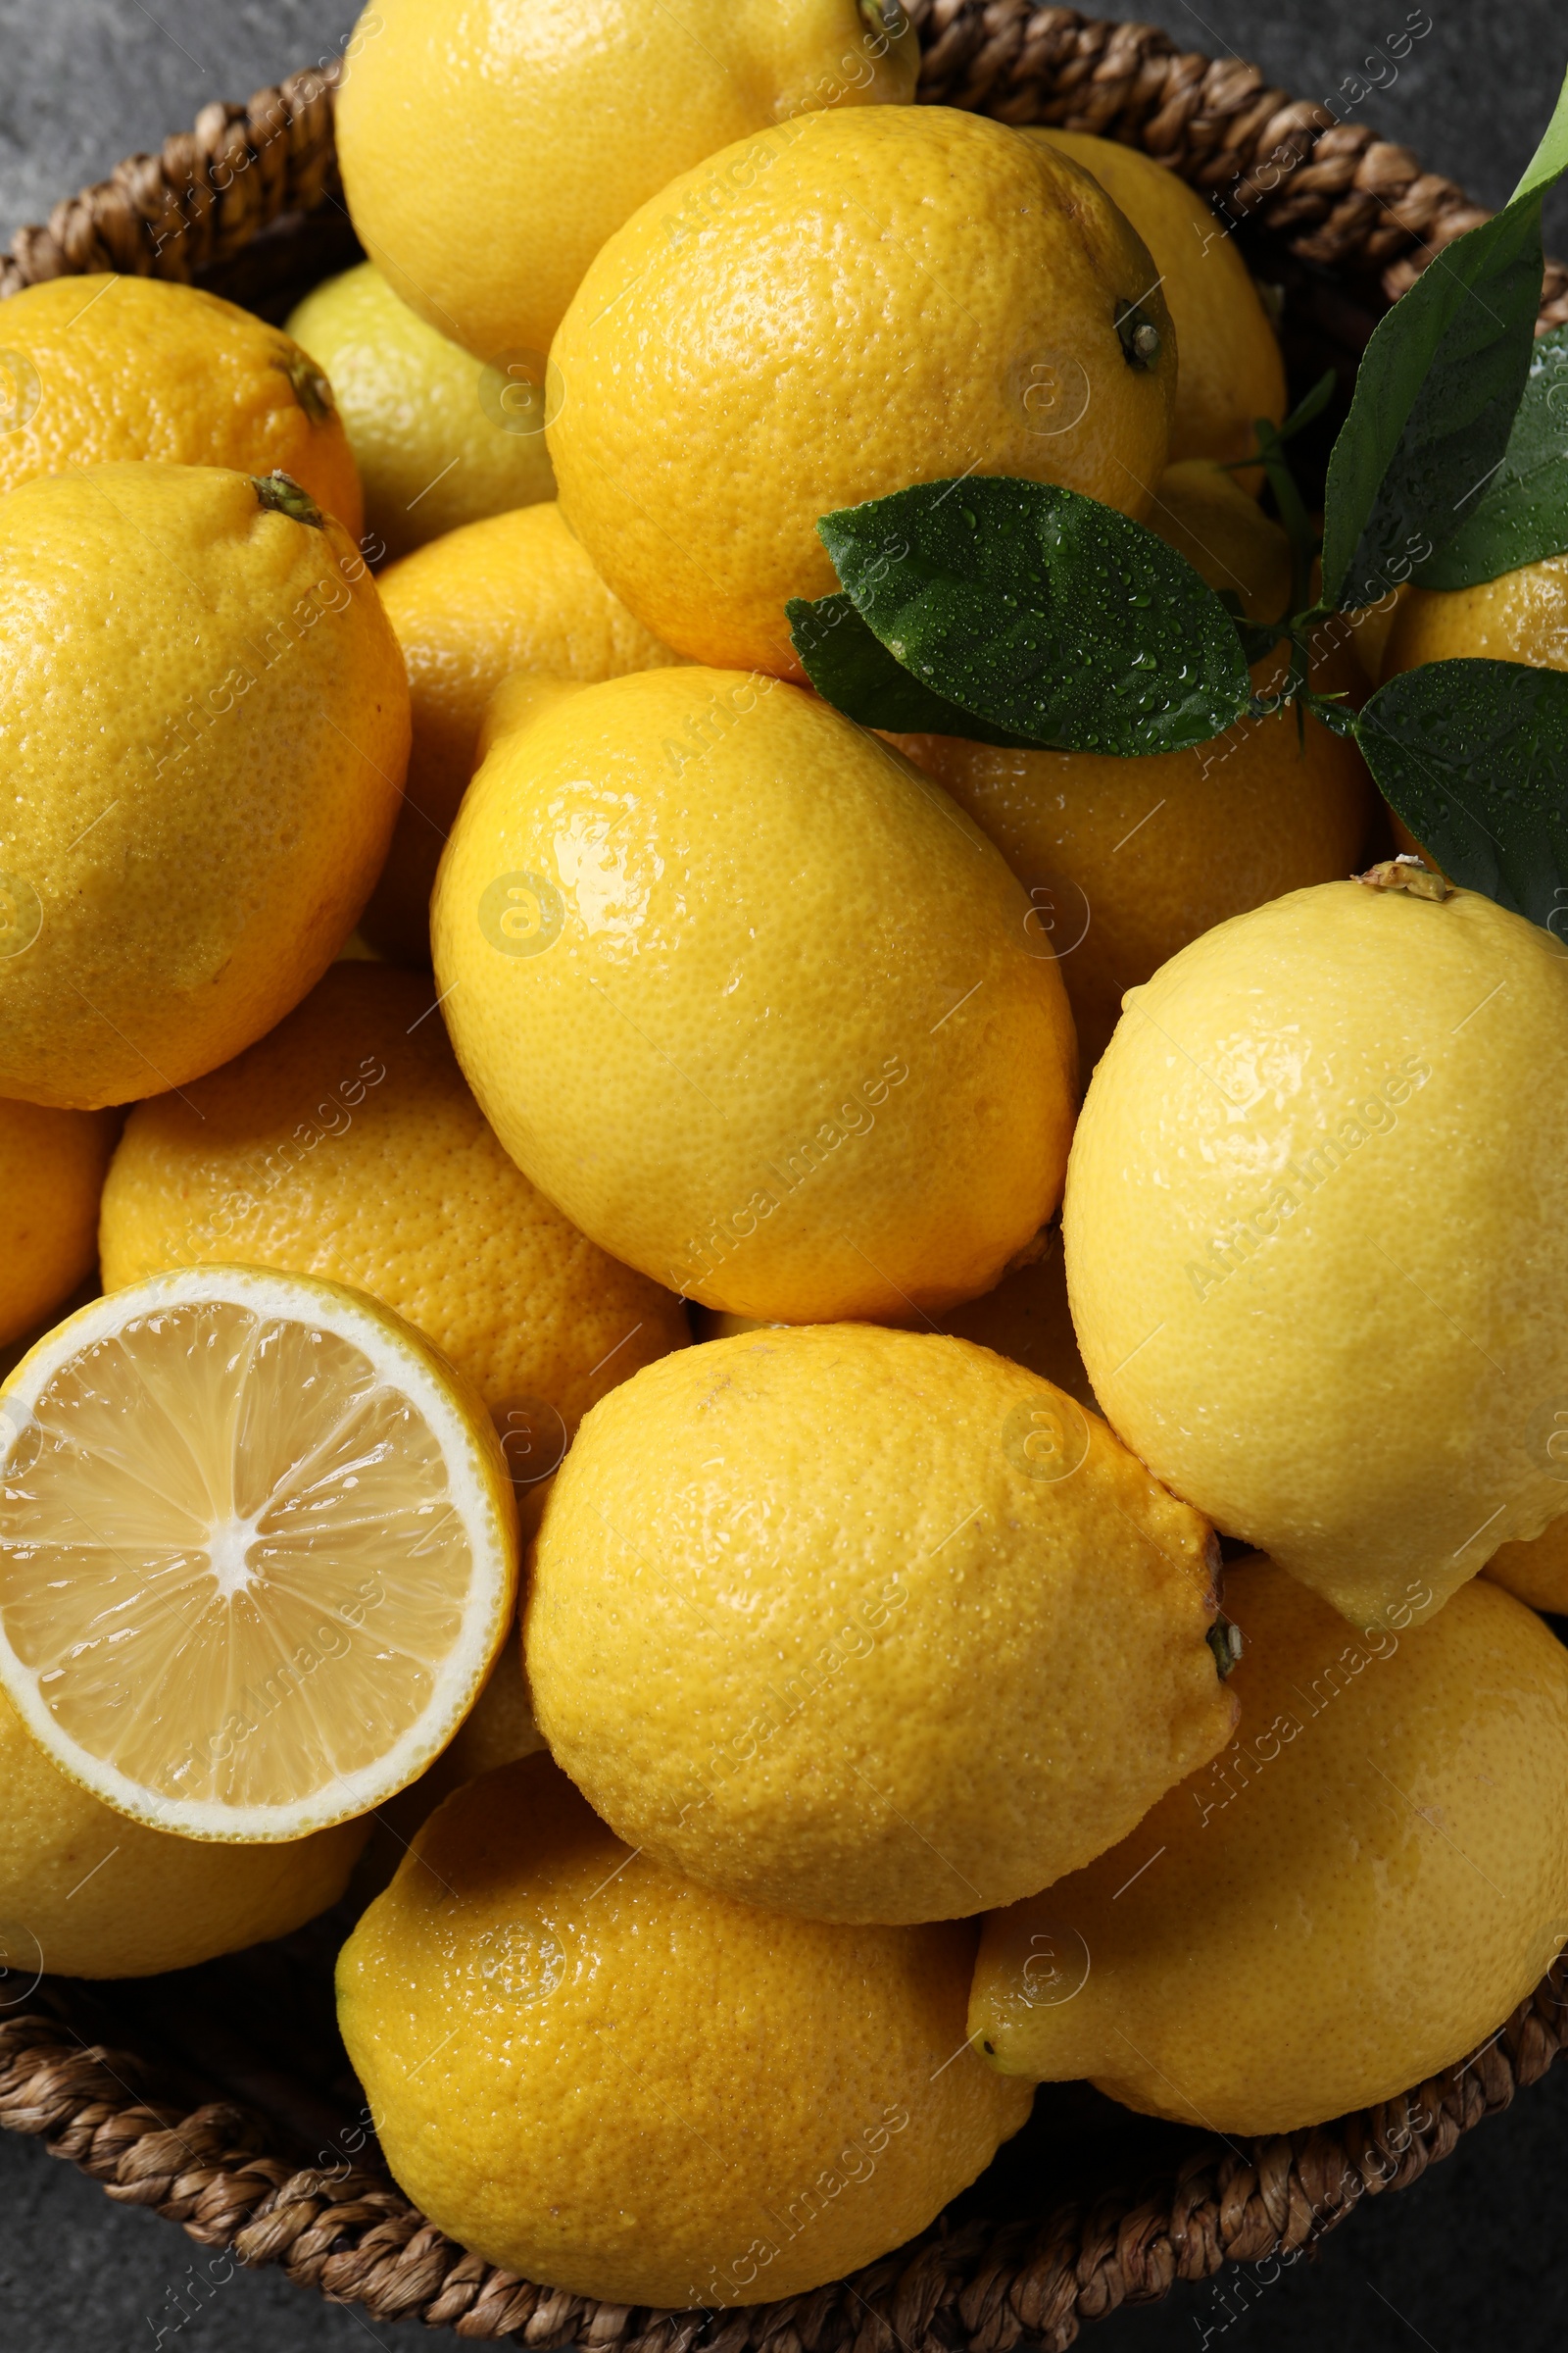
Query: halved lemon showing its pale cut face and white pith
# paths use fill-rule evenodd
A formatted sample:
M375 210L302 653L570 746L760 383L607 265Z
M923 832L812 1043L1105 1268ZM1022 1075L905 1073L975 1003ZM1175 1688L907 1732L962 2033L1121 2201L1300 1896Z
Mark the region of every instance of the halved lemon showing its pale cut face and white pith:
M94 1299L0 1388L0 1682L186 1838L301 1838L435 1758L517 1595L489 1414L400 1315L249 1266Z

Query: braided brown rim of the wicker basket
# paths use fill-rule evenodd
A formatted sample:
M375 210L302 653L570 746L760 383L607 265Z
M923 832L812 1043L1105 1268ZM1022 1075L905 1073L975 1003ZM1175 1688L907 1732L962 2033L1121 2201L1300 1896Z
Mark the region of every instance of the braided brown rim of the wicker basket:
M1121 139L1166 162L1234 221L1298 261L1380 280L1394 301L1486 212L1373 129L1269 89L1255 66L1182 52L1152 26L1032 0L907 0L926 104L1004 122ZM0 296L42 278L122 271L193 280L263 231L341 207L334 68L294 73L247 106L212 104L195 129L132 155L56 205L0 256ZM1568 268L1547 264L1540 327L1568 322ZM54 2017L0 2024L0 2127L45 2139L122 2205L183 2224L242 2264L282 2264L301 2287L418 2315L458 2337L515 2334L616 2353L1058 2353L1084 2320L1164 2297L1227 2261L1291 2257L1359 2198L1406 2188L1462 2132L1507 2108L1568 2045L1568 1962L1469 2059L1378 2108L1274 2139L1208 2137L1159 2188L1060 2202L1044 2221L945 2217L879 2264L809 2297L731 2313L599 2304L468 2254L386 2174L299 2169L228 2101L160 2104L134 2054L82 2045Z

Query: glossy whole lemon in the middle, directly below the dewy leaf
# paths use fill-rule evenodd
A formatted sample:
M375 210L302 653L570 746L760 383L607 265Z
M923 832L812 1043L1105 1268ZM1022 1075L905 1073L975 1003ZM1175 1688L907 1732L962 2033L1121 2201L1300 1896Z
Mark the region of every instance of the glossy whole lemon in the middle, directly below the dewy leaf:
M480 1108L602 1249L764 1320L933 1311L1058 1200L1074 1038L1027 913L837 711L644 671L496 736L435 976Z

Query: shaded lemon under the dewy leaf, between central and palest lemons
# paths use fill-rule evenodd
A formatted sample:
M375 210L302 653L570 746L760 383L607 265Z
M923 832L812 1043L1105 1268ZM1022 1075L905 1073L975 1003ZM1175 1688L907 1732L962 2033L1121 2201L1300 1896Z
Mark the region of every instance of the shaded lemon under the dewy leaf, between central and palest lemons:
M1276 692L1286 664L1284 652L1255 664L1253 692ZM1328 666L1314 685L1328 685ZM1143 760L893 741L990 833L1030 894L1030 922L1060 960L1084 1071L1110 1045L1126 991L1187 941L1347 875L1375 807L1356 746L1319 718L1298 725L1293 706Z

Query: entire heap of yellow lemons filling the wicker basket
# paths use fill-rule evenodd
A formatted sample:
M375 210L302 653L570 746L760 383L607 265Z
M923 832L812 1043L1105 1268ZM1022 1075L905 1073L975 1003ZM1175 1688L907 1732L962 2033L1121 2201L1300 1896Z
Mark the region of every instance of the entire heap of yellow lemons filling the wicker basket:
M914 78L378 0L360 268L0 336L0 1960L350 1889L393 2174L628 2306L886 2254L1041 2080L1389 2099L1568 1939L1566 953L1347 880L1312 715L804 687L910 482L1291 574L1206 205ZM1559 569L1319 682L1563 666Z

